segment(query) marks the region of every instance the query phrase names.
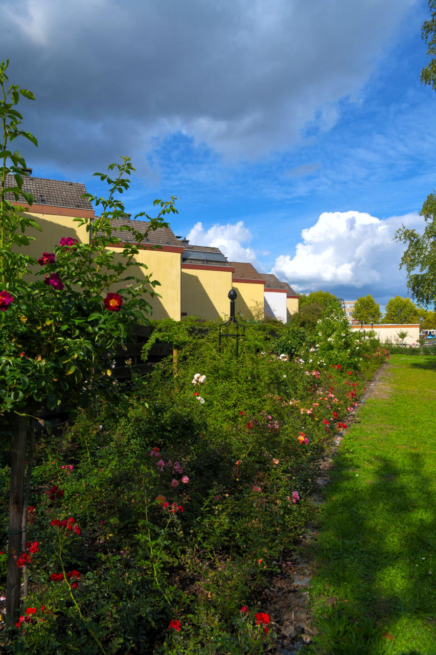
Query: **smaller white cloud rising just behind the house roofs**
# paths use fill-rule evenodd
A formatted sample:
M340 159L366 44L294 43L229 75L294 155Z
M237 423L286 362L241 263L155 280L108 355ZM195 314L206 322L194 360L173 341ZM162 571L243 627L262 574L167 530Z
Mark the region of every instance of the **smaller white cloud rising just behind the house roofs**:
M246 246L253 235L244 227L244 221L219 225L215 223L208 230L198 221L187 234L192 246L213 246L219 248L229 261L248 261L253 265L259 264L253 248Z

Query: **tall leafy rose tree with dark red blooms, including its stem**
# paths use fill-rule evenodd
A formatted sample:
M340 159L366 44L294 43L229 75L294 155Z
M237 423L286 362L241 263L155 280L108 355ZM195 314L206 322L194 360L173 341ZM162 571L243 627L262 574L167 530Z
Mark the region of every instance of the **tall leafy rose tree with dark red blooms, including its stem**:
M109 404L117 403L117 386L110 379L114 347L126 339L134 322L147 322L151 305L145 295L151 297L158 282L130 274L132 266L146 268L135 255L140 247L136 244L147 233L137 231L134 221L118 224L118 219L128 216L120 200L134 171L128 157L111 164L108 174L96 174L109 186L107 198L86 195L100 206L100 217L74 219L90 233L88 243L65 236L38 259L26 252L34 240L29 231L41 227L18 204L31 206L33 198L23 186L26 162L11 143L24 138L37 145L33 134L22 129L23 117L17 109L22 98L35 99L29 90L9 83L8 65L9 61L0 64L0 425L3 440L11 440L7 614L12 618L20 600L16 557L26 513L23 488L29 428L41 411L61 402L69 409L86 407L97 390ZM166 215L177 211L175 199L156 200L156 217L141 212L135 218L145 216L148 231L166 227ZM115 230L128 230L134 243L120 240ZM121 257L113 246L121 249ZM114 287L116 291L111 291Z

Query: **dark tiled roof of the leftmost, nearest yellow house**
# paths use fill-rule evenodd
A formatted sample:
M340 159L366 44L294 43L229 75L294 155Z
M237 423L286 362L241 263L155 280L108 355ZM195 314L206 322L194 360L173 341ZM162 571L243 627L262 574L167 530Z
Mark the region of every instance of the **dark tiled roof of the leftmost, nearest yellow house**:
M6 176L6 186L14 187L15 179L12 175ZM86 193L84 184L79 182L65 182L60 179L45 178L24 178L23 189L33 195L35 204L46 204L52 207L71 207L73 209L94 210L92 204L82 198ZM14 202L15 198L12 193L6 194L7 200ZM26 204L26 200L21 196L18 202Z

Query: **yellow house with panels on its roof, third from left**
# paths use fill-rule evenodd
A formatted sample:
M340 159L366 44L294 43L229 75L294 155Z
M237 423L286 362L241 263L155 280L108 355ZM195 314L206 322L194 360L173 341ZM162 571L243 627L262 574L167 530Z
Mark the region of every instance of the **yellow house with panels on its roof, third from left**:
M227 318L234 269L219 248L191 246L181 240L181 316Z

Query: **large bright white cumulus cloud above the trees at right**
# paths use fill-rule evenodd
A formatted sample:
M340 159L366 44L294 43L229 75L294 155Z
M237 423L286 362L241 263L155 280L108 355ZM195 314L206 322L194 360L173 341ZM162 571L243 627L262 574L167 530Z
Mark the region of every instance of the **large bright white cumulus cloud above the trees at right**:
M424 219L418 214L379 219L364 212L323 212L302 230L295 255L277 257L272 272L300 292L348 288L356 296L384 296L405 287L405 272L398 268L405 246L392 240L402 223L420 231Z

